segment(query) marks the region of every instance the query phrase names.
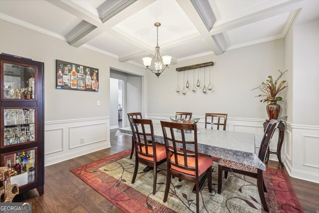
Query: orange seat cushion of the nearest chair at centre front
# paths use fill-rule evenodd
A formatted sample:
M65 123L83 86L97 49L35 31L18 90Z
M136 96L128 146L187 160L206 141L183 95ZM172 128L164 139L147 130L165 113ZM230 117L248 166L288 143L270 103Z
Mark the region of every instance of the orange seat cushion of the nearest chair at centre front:
M172 155L170 160L173 163L175 163L175 156ZM179 165L185 166L184 165L184 156L178 155L177 160L178 160ZM213 161L211 160L211 158L209 156L198 153L198 176L200 176L202 173L204 173L212 165L213 165ZM195 167L195 158L194 157L187 157L187 167ZM184 174L196 176L195 171L182 169L182 168L176 167L174 165L171 165L170 168L173 170L176 170L178 172L184 173Z

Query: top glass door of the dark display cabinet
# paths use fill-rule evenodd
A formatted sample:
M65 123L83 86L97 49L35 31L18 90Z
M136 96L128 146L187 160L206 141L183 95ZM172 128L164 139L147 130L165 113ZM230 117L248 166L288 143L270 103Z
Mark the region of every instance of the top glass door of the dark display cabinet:
M3 95L2 100L36 99L37 67L13 64L3 61Z

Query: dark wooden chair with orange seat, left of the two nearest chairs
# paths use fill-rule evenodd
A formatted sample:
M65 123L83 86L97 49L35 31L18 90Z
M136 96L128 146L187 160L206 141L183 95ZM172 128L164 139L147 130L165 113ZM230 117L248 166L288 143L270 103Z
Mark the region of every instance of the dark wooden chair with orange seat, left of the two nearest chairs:
M136 175L139 169L139 163L142 163L149 167L153 167L153 195L155 195L157 168L160 164L166 161L165 145L155 143L152 120L138 118L129 118L129 120L135 145L135 168L132 178L132 184L135 183ZM146 133L145 126L149 127L147 129L150 129L150 132ZM152 143L148 143L148 137L152 138Z

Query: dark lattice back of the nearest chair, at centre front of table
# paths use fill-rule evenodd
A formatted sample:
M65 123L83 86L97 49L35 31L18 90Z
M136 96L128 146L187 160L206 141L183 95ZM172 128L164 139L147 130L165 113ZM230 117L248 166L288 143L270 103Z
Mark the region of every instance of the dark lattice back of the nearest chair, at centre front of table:
M166 156L167 157L167 167L170 169L171 165L174 165L175 167L185 169L188 171L195 171L196 177L198 177L198 152L197 152L197 126L196 124L181 124L181 123L172 123L172 122L166 122L166 121L160 121L161 128L163 131L164 136L164 142L165 142L165 148L166 148ZM170 136L167 136L166 128L169 129ZM174 130L179 130L181 135L181 140L175 139L176 132ZM185 130L193 130L194 131L194 141L186 141L185 140ZM177 133L179 134L179 133ZM172 144L172 145L170 145ZM178 146L179 145L179 146ZM191 150L191 152L187 152L186 148L189 148L193 145L194 150ZM180 147L181 150L178 150L177 148ZM172 162L170 160L170 156L174 155L174 161ZM177 156L183 156L183 160L181 162L178 162ZM195 158L195 167L189 167L187 164L187 157L189 158ZM177 173L180 173L178 171L175 171Z

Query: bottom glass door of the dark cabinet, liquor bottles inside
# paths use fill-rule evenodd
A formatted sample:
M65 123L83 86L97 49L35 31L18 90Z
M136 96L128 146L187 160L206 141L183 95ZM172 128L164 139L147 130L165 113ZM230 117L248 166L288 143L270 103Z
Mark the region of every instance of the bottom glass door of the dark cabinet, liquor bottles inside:
M11 184L23 187L36 182L37 148L1 155L1 166L9 168Z

